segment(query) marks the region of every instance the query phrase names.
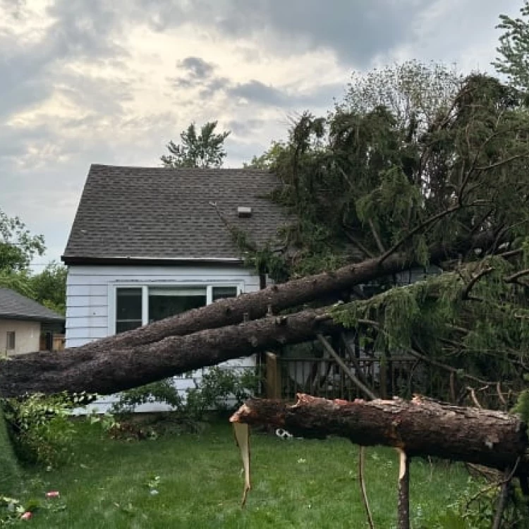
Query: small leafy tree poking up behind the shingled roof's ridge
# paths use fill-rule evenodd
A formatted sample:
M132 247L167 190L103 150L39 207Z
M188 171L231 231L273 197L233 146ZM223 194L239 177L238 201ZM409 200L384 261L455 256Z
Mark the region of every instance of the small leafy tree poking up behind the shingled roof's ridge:
M216 134L217 121L209 121L200 128L197 135L195 123L191 123L187 130L180 135L181 144L170 141L167 149L170 154L161 157L166 167L200 167L202 169L220 167L226 157L224 140L230 131Z

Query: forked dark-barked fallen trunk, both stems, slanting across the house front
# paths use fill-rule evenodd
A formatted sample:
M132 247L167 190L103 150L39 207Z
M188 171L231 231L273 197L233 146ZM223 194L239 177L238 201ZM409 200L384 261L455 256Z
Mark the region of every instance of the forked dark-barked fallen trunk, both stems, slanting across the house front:
M495 241L494 233L482 233L450 250L435 248L430 255L431 262L439 262L469 248L487 248ZM370 259L336 272L219 300L140 329L66 349L60 354L22 355L0 363L0 395L60 391L111 394L266 351L278 344L315 339L318 332L339 330L336 323L325 317L325 309L307 310L279 319L259 318L269 312L346 291L355 284L406 270L412 265L406 255L395 253L382 264L379 258Z

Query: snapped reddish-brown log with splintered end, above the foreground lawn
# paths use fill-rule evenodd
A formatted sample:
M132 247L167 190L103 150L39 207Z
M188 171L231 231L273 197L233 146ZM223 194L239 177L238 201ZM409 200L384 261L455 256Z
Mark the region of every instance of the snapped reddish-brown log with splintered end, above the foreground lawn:
M411 456L438 456L499 470L529 471L526 426L508 413L412 401L329 401L298 394L295 404L253 399L231 422L272 425L303 437L337 435L355 444L394 446Z

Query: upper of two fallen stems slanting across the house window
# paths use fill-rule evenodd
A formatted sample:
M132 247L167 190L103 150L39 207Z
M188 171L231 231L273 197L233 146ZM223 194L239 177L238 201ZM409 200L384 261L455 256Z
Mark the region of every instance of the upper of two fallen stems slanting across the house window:
M499 243L497 233L484 232L463 239L451 248L439 246L430 251L430 262L436 264L447 258L476 248L487 249ZM381 260L381 257L348 265L334 272L324 272L313 276L294 279L288 283L272 285L261 291L246 293L237 298L219 300L206 307L189 310L181 315L166 318L159 322L109 336L80 349L83 351L108 351L124 349L142 344L154 343L168 336L185 336L205 329L218 329L243 322L257 320L269 312L296 307L326 296L346 293L353 286L373 281L379 277L406 271L420 266L406 253L394 253Z

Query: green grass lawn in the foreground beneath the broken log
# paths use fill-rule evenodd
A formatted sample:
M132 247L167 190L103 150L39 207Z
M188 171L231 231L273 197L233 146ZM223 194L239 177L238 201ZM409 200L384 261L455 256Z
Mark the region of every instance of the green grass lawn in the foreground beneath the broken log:
M253 434L253 490L241 509L242 465L228 422L209 424L201 434L140 442L102 438L85 423L77 430L71 463L25 470L32 496L61 494L47 500L52 509L35 512L34 529L367 527L358 447L346 440ZM397 470L394 451L367 449L367 492L379 529L395 523ZM154 476L155 495L148 485ZM432 528L437 513L477 487L461 466L413 461L413 528Z

